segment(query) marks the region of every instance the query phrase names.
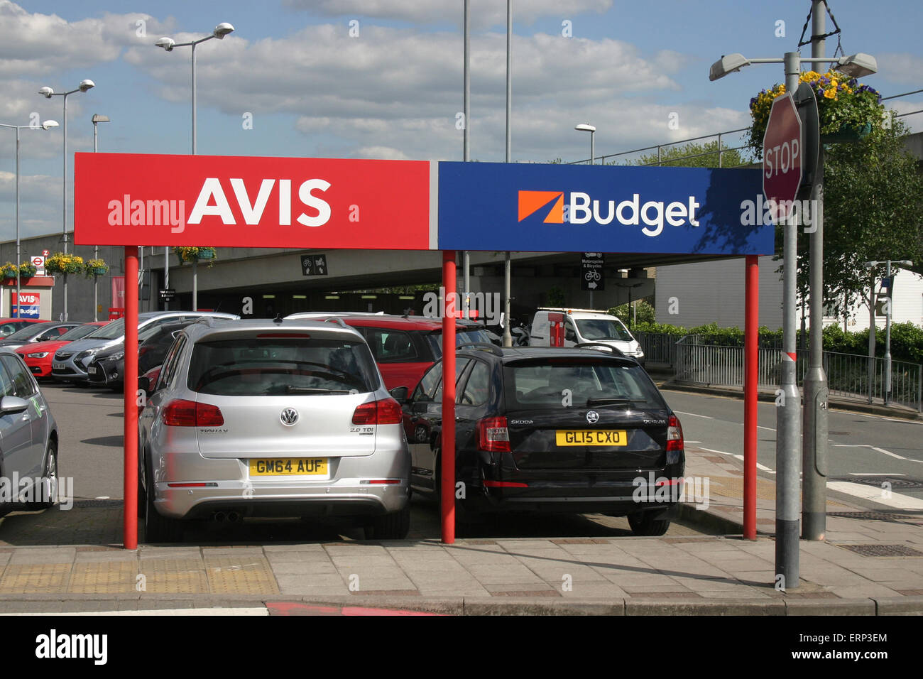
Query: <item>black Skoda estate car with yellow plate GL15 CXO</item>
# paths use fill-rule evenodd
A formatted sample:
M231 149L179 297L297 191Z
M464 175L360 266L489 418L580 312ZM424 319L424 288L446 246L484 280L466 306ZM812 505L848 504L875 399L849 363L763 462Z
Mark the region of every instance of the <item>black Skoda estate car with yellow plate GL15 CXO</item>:
M590 348L489 345L460 346L456 361L461 515L627 515L638 535L666 532L686 462L682 428L637 361ZM411 484L438 494L442 362L410 398L404 387L391 394L412 442Z

